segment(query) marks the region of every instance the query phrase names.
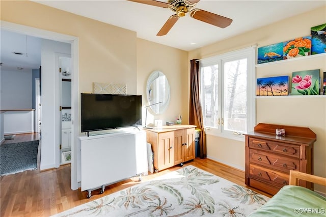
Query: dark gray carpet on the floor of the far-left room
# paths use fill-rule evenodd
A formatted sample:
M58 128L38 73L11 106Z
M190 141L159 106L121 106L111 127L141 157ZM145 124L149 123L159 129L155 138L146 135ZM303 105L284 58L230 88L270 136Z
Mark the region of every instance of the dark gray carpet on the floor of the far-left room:
M21 143L8 143L0 146L1 175L37 169L39 140Z

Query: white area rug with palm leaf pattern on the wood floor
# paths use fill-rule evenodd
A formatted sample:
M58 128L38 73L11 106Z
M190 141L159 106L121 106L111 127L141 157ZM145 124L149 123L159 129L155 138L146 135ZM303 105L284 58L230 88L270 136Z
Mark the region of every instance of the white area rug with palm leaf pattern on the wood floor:
M248 216L268 199L187 166L55 216Z

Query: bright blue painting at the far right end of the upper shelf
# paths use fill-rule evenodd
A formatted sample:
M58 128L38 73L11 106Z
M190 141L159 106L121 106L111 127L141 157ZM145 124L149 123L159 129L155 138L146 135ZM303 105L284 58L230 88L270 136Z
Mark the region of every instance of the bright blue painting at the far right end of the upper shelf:
M326 23L313 26L311 32L311 54L326 52Z

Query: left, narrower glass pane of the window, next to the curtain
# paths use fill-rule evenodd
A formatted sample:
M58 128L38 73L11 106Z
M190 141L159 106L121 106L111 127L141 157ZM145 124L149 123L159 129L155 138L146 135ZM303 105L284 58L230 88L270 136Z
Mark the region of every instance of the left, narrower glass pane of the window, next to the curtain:
M218 121L218 71L219 65L201 68L204 125L219 127Z

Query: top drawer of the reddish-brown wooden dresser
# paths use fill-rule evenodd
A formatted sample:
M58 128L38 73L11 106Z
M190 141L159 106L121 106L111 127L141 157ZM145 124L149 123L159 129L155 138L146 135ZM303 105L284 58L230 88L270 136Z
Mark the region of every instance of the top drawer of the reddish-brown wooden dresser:
M284 154L292 157L300 157L300 146L296 145L289 145L269 140L250 138L249 147L258 150L271 151L277 154Z

